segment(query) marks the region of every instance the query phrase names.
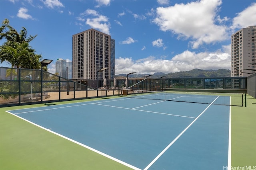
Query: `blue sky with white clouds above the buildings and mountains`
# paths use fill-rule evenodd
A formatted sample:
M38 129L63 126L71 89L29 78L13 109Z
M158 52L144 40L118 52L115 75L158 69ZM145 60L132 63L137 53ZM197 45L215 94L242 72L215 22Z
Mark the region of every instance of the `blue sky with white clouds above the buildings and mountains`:
M90 28L115 39L116 74L230 70L230 36L256 25L256 1L1 0L5 18L37 35L30 45L54 60L52 73L58 58L72 61L72 35Z

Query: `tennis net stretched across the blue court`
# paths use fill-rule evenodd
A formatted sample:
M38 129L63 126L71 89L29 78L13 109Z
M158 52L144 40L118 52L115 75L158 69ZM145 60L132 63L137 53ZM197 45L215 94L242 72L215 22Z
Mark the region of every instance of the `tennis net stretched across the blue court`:
M242 93L212 92L170 92L119 89L119 96L139 99L167 100L200 104L217 104L226 106L243 106Z

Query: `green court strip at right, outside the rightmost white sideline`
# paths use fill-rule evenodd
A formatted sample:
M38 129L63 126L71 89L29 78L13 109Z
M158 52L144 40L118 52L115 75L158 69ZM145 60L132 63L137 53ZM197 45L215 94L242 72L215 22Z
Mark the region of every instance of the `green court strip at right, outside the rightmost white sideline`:
M256 99L251 96L246 99L247 107L231 107L231 164L253 168L256 166Z

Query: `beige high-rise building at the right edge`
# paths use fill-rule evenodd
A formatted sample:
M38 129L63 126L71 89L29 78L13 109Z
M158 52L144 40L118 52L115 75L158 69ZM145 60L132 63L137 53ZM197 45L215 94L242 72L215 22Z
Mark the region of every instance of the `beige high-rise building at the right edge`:
M256 72L256 25L242 28L231 36L231 76Z

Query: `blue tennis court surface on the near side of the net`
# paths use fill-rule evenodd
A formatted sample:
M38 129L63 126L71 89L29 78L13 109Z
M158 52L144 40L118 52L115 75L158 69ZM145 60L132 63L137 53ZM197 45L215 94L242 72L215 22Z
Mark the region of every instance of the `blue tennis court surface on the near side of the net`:
M133 169L229 164L230 106L112 98L8 112Z

